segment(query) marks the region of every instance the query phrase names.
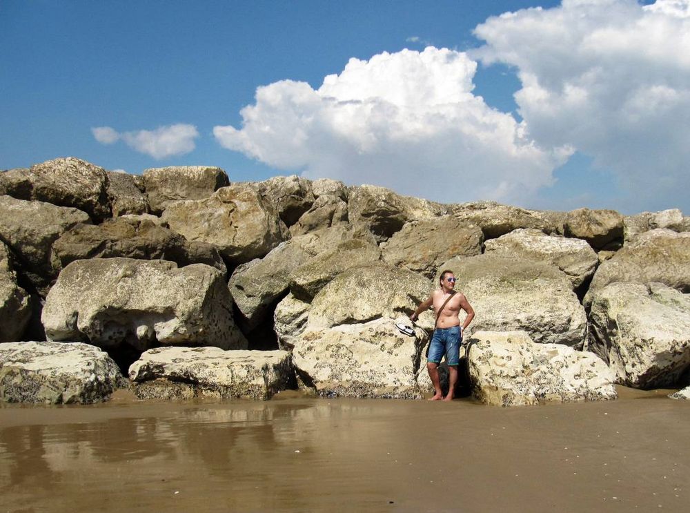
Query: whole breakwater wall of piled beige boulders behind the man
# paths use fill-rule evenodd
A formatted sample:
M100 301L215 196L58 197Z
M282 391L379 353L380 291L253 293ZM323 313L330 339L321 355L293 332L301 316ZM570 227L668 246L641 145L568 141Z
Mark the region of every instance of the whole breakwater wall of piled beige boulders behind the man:
M421 398L452 269L477 316L464 387L495 405L690 385L680 211L437 204L217 167L0 173L0 400ZM674 398L687 398L685 392Z

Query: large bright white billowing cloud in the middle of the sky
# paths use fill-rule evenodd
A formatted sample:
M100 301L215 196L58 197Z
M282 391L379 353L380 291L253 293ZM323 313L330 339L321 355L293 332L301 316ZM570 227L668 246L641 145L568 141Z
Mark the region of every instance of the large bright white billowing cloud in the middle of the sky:
M222 146L309 178L379 184L443 202L524 203L571 150L545 150L509 113L473 94L475 61L426 48L350 59L317 90L299 81L257 89Z

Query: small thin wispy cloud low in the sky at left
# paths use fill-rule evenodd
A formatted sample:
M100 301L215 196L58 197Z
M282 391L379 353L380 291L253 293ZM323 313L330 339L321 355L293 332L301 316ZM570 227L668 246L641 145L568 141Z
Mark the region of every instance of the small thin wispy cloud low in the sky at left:
M160 126L155 130L136 130L119 133L110 126L91 128L91 133L101 144L114 144L120 139L130 148L150 155L155 159L164 159L184 155L193 151L195 139L199 137L197 128L188 124Z

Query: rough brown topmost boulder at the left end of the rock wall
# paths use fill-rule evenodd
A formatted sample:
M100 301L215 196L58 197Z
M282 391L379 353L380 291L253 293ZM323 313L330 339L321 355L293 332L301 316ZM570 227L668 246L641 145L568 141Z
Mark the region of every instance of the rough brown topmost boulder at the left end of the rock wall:
M110 217L107 189L106 170L75 157L48 160L30 169L12 169L3 173L0 182L0 193L72 206L94 220Z

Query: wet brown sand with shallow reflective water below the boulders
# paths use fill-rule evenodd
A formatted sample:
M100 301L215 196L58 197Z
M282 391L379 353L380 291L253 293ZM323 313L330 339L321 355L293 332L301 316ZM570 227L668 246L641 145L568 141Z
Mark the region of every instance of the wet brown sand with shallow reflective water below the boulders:
M686 512L690 403L0 406L0 512Z

